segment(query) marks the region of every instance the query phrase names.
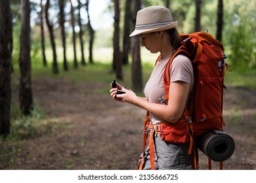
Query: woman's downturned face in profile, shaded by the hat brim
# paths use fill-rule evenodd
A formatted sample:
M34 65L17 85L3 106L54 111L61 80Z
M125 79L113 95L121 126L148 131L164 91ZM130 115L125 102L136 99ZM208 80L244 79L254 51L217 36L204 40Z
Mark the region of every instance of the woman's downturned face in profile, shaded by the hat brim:
M141 38L141 46L145 46L151 53L156 54L160 51L160 32L144 33L139 35Z

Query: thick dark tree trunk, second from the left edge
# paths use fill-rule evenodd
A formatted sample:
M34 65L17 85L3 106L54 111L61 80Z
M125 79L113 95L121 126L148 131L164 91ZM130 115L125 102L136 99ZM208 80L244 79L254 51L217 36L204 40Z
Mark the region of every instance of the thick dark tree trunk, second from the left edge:
M33 110L33 97L31 86L31 58L30 58L30 2L21 0L22 26L20 30L20 108L27 116Z

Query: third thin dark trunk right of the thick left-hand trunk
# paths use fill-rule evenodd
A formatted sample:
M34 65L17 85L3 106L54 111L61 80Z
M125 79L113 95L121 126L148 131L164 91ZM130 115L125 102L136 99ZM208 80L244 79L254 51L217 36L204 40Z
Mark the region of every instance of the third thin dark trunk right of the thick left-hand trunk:
M59 0L59 7L60 7L60 28L62 31L62 47L63 47L63 67L64 71L68 70L67 65L67 57L66 57L66 46L65 46L65 14L64 14L64 7L65 7L65 1Z

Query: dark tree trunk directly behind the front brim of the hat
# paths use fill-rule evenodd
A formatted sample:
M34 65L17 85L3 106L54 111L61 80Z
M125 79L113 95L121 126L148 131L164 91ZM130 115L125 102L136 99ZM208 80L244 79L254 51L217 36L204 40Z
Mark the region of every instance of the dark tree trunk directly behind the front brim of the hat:
M135 1L134 8L134 27L136 24L137 11L141 9L141 0ZM132 89L142 91L142 72L141 72L141 54L140 38L136 35L132 38Z

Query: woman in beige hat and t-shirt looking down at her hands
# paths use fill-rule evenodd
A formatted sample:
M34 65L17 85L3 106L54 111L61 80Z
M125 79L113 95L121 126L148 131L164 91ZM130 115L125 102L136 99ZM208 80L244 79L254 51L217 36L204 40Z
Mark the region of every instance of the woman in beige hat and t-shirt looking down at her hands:
M187 56L178 55L170 67L168 101L164 103L159 100L166 94L162 80L164 68L180 46L179 32L176 27L177 22L173 21L168 8L153 6L139 10L135 30L130 36L139 35L141 46L145 46L153 54L160 52L160 57L145 86L145 98L138 97L136 93L122 88L119 84L117 84L117 88L111 86L110 90L113 99L147 110L150 124L158 125L161 130L164 128L176 129L177 125L181 124L179 121L184 108L189 103L189 96L194 84L190 59ZM122 90L125 93L117 94L117 90ZM180 139L172 139L174 138L172 134L170 134L172 137L169 136L170 141L164 141L160 137L161 135L153 130L154 150L147 146L145 152L141 154L140 168L194 169L194 156L188 153L190 148L189 131L181 131L183 131L182 136L185 137L182 142L179 141ZM166 139L168 138L166 137ZM152 159L155 160L155 163L154 161L152 163Z

